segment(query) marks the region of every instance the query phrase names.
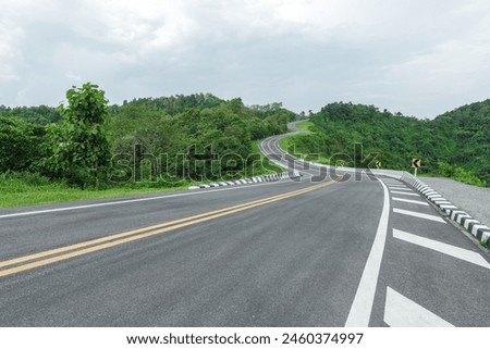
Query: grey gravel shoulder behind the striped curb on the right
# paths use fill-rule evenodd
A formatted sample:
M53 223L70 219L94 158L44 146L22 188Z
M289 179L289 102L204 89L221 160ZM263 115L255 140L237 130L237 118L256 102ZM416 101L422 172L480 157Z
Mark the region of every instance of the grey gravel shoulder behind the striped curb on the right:
M419 177L449 201L490 226L490 188L480 188L450 178Z

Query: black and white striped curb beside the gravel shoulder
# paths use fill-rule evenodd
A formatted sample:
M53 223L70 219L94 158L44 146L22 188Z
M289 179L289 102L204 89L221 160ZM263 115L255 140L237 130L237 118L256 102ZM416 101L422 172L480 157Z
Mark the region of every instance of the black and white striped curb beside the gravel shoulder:
M456 222L464 227L468 233L475 236L479 241L487 244L490 240L490 228L481 224L478 220L473 219L468 213L458 209L452 202L443 198L439 192L426 185L420 179L415 178L408 173L402 175L401 180L411 185L415 190L420 192L430 202L436 204L448 215L451 221Z

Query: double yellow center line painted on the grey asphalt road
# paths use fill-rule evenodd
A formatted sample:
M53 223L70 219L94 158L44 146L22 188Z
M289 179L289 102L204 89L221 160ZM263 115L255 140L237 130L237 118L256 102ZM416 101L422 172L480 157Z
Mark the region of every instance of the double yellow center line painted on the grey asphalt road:
M189 225L203 223L206 221L215 220L221 216L225 216L229 214L233 214L236 212L245 211L248 209L257 208L267 203L275 202L279 200L284 200L287 198L296 197L302 194L306 194L313 190L317 190L323 187L327 187L331 184L335 183L334 180L321 183L308 188L294 190L291 192L269 197L266 199L260 199L256 201L250 201L242 204L237 204L234 207L209 211L200 214L196 214L193 216L188 216L185 219L180 219L171 222L166 222L162 224L157 224L152 226L148 226L145 228L139 228L135 230L130 230L125 233L120 233L115 235L110 235L107 237L98 238L95 240L84 241L66 247L61 247L52 250L47 250L39 253L28 254L20 258L15 258L12 260L0 262L0 277L26 272L39 266L49 265L52 263L57 263L60 261L64 261L68 259L72 259L75 257L88 254L91 252L101 251L111 247L115 247L119 245L140 240L150 236L168 233L171 230L175 230L179 228L183 228Z

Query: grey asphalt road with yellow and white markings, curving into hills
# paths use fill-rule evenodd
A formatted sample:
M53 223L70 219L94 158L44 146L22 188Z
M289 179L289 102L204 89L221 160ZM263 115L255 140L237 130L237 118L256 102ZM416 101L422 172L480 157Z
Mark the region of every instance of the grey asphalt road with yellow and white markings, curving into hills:
M0 210L0 326L490 326L488 253L420 196L298 165L301 182Z

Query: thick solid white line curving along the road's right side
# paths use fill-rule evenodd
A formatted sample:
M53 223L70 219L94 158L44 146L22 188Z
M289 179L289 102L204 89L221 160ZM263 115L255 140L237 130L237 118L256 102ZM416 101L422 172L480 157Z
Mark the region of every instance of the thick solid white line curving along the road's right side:
M379 270L381 267L384 245L387 242L388 220L390 217L390 196L388 188L381 180L379 183L383 186L383 210L381 212L371 251L366 261L356 296L354 297L347 321L345 322L346 327L367 327L369 326L369 319L371 317Z

